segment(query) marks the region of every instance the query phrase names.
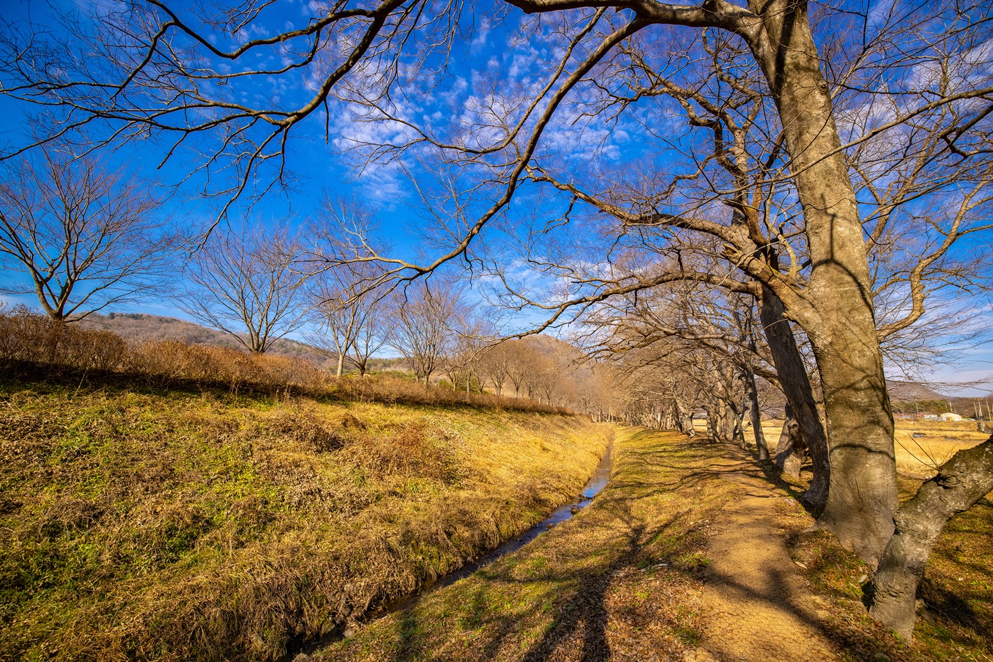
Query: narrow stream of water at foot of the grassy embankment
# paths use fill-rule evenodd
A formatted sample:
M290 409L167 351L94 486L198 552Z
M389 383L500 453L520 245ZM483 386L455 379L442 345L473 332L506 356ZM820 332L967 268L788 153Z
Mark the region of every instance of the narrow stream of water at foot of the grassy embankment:
M613 451L614 443L611 442L607 445L607 450L604 452L604 457L600 459L600 463L597 464L597 468L593 471L593 477L591 477L590 481L586 483L586 487L583 488L583 491L579 493L579 496L577 496L575 500L570 503L560 505L552 512L551 515L519 534L515 538L505 541L486 556L476 561L467 563L459 570L449 573L444 577L440 577L431 584L425 584L409 596L400 597L383 604L378 609L363 618L363 620L373 620L389 615L394 611L401 611L421 597L434 593L439 589L444 589L447 586L455 584L461 579L469 577L479 569L489 566L494 561L497 561L497 559L506 556L510 552L519 550L521 547L531 542L545 531L554 528L566 520L572 519L574 514L590 505L590 503L593 502L593 498L607 486L608 482L610 482L611 470L614 468ZM288 654L286 659L293 660L293 658L299 653L313 653L314 651L328 646L336 641L340 641L343 638L345 638L345 632L342 629L336 628L334 631L321 637L320 639L310 641L306 644L291 640L287 646Z

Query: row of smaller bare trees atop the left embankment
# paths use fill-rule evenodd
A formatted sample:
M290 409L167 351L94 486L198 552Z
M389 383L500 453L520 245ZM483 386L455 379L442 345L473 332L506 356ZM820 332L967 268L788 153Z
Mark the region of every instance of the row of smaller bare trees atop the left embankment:
M464 284L435 278L370 287L381 274L376 265L329 260L342 248L329 228L361 209L326 201L333 217L312 229L321 241L311 248L285 226L261 223L213 228L198 244L194 234L166 232L162 200L147 183L53 148L31 156L21 170L8 169L0 187L0 246L54 321L159 294L253 353L309 328L306 339L336 358L339 376L346 367L365 374L388 347L418 380L444 372L457 388L575 401L577 357L535 338L496 342ZM8 291L20 292L14 284Z

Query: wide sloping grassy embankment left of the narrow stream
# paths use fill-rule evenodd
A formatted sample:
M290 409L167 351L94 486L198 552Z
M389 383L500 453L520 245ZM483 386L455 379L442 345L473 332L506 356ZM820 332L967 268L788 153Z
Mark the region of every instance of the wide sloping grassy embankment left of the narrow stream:
M572 498L609 436L493 408L0 375L0 659L274 659Z

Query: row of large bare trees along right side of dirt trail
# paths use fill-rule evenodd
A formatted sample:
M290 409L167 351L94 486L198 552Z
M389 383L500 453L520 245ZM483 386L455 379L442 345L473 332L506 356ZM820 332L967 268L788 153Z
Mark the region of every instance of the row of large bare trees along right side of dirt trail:
M935 300L989 283L971 241L993 204L989 3L373 0L289 25L278 3L97 4L91 30L4 26L3 89L51 116L27 147L152 135L226 211L285 182L300 134L358 125L336 143L362 169L401 164L437 221L416 262L357 241L377 281L464 260L543 328L674 287L657 296L675 313L618 337L632 355L688 352L718 435L741 427L729 394L756 390L748 371L775 371L818 526L879 564L872 613L910 633L931 533L993 488L991 441L942 467L945 506L926 483L898 510L884 374L887 347L922 347ZM471 82L450 66L479 17L524 66L495 58ZM547 48L513 52L529 39ZM295 91L259 93L273 80Z

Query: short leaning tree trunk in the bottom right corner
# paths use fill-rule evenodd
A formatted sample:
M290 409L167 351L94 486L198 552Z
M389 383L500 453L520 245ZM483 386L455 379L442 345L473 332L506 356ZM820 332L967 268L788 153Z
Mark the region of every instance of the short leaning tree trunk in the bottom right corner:
M918 586L945 522L993 490L993 437L959 451L897 511L897 530L873 578L869 613L901 636L914 632Z

